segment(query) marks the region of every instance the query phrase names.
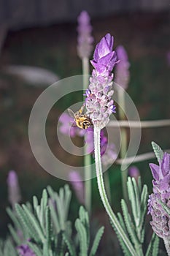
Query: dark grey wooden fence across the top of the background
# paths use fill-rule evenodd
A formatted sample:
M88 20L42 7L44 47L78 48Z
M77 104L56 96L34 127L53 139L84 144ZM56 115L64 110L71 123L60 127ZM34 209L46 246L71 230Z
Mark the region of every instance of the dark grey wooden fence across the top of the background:
M0 0L0 24L21 29L75 21L81 10L87 10L92 17L139 10L170 10L170 0Z

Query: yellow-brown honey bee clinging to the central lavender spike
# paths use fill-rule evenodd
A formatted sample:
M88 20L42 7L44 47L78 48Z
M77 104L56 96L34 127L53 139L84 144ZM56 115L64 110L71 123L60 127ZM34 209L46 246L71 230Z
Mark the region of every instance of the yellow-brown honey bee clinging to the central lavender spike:
M68 109L68 111L69 115L74 118L77 127L81 129L88 129L89 127L93 126L93 123L90 118L83 113L84 108L85 105L82 105L80 110L78 110L76 113L74 113L71 109Z

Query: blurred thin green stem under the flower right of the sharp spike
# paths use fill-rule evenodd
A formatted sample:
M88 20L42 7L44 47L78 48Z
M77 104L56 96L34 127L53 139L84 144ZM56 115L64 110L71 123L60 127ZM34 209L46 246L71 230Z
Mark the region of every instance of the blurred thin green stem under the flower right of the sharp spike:
M119 102L119 118L120 120L123 120L125 118L125 113L123 112L123 109L125 110L125 94L124 90L118 91L118 102ZM127 133L125 128L121 128L121 147L120 147L120 158L125 158L125 154L127 151ZM128 170L123 168L124 170L121 171L121 178L122 178L122 187L123 187L123 198L125 201L128 201L128 191L127 191L127 178L128 178Z

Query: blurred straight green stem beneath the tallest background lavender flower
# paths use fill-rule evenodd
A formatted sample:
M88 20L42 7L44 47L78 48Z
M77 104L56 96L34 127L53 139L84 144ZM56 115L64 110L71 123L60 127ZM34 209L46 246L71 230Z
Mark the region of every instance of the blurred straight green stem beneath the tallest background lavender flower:
M82 89L85 91L88 88L89 82L89 59L82 59ZM85 169L85 208L90 214L91 211L91 159L86 147L84 151L84 169Z

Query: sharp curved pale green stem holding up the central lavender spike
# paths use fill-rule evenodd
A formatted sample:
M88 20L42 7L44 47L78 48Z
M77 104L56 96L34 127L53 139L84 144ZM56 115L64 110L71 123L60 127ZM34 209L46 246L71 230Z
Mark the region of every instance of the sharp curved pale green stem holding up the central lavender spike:
M95 148L95 162L96 162L96 176L98 182L98 190L101 196L101 201L104 204L104 208L109 215L113 225L115 226L117 233L123 239L125 245L128 247L129 252L131 252L131 256L136 256L136 252L134 250L134 246L131 244L131 241L128 240L127 235L125 234L123 228L120 226L120 223L117 220L116 215L112 211L112 208L109 204L109 200L107 198L107 193L104 187L104 179L101 168L101 151L100 151L100 129L94 127L94 148Z

